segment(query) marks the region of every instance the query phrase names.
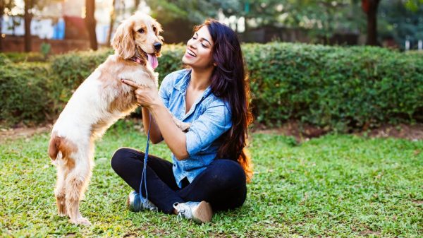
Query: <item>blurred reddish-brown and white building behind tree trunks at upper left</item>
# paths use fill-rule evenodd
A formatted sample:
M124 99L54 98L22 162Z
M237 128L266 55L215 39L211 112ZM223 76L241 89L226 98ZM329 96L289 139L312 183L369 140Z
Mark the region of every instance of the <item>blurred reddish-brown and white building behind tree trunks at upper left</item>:
M112 0L96 1L96 35L99 44L108 44L106 39L111 4ZM39 51L42 42L51 44L52 53L90 48L84 20L85 1L52 2L34 15L31 22L32 51ZM25 35L23 17L3 16L1 24L4 51L22 52Z

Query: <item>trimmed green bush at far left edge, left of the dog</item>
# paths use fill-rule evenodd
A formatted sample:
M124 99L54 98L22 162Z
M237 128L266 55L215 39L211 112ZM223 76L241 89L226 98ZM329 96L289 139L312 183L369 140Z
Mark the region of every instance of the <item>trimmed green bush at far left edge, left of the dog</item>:
M22 63L1 66L0 121L8 125L46 121L51 112L48 93L50 84L47 64Z

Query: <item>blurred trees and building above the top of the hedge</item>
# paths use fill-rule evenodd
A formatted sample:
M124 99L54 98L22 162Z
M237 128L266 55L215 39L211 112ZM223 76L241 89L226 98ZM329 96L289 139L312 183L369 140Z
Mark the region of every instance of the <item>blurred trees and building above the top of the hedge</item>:
M0 0L0 52L58 54L109 47L135 11L157 18L166 43L216 18L243 42L423 49L423 0Z

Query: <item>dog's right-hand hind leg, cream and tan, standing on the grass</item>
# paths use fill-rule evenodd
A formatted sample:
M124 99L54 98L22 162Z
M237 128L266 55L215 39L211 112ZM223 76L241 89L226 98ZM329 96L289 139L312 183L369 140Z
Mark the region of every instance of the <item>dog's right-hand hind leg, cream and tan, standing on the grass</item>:
M79 151L74 155L74 160L78 162L66 177L66 209L73 224L91 225L89 220L82 217L79 209L80 200L92 174L91 158L88 153L82 154Z

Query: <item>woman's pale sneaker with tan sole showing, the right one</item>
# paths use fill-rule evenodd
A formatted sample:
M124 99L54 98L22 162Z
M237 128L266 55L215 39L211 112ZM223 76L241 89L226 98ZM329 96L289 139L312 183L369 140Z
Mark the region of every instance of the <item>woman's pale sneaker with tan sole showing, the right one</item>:
M173 204L173 208L178 212L178 218L185 217L198 223L210 222L212 220L212 206L206 201L175 203Z

